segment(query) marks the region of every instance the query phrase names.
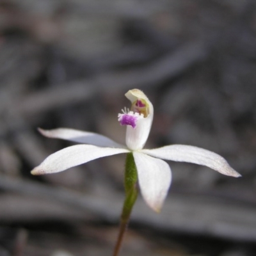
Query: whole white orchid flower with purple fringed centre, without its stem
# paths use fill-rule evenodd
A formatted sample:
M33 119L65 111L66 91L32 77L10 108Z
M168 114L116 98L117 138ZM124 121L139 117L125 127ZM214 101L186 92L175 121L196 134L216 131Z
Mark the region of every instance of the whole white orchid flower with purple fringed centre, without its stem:
M170 166L161 159L201 164L224 175L241 176L223 157L203 148L168 145L155 149L143 149L151 129L154 108L141 90L129 90L125 96L131 100L131 111L125 108L118 115L118 121L121 125L127 125L127 147L93 132L66 128L49 131L39 129L46 137L83 144L67 147L52 154L31 173L33 175L57 173L100 157L132 152L141 194L147 204L157 212L161 210L172 180Z

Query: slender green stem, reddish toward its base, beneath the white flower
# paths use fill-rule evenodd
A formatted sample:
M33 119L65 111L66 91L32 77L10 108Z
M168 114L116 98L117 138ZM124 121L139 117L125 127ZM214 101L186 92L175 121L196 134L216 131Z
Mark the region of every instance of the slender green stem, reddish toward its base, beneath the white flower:
M132 207L136 202L138 196L138 175L136 165L134 163L134 158L132 153L128 153L125 161L125 177L124 177L124 186L125 186L125 200L123 205L123 210L120 220L120 228L118 239L116 241L115 250L113 256L118 256L122 241L124 239L125 230L129 223L129 219L132 212Z

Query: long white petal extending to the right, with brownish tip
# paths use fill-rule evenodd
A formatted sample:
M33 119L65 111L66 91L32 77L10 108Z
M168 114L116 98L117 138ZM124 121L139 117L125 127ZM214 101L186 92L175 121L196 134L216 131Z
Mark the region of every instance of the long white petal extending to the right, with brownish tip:
M241 176L230 167L223 157L203 148L188 145L170 145L155 149L144 149L141 152L161 159L204 165L228 176Z

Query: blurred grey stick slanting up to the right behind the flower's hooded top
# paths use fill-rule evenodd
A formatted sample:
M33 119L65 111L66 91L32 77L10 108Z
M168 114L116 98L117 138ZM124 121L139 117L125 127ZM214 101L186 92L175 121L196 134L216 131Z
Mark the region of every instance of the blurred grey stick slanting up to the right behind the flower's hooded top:
M204 41L189 42L154 61L152 65L123 72L106 71L90 81L82 79L62 84L58 88L30 93L23 99L16 100L13 108L19 109L22 116L38 115L38 113L61 108L61 106L74 104L74 102L84 102L97 93L109 92L116 88L127 90L136 86L140 86L140 88L156 86L165 79L182 74L196 62L207 58L210 48Z

